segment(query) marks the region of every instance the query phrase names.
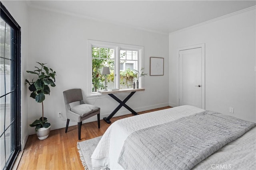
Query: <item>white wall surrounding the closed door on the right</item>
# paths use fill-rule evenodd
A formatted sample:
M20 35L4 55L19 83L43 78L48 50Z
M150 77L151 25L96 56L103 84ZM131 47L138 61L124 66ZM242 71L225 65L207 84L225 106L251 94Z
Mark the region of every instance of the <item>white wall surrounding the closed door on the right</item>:
M255 14L254 7L170 33L170 106L178 106L177 48L205 43L205 108L256 122Z

